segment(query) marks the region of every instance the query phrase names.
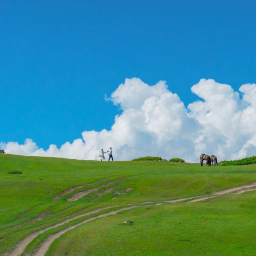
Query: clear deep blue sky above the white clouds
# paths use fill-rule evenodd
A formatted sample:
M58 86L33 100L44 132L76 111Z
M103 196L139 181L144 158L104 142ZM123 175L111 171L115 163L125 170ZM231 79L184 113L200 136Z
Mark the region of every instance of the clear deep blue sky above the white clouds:
M255 1L2 1L0 141L43 148L109 129L127 77L185 104L212 78L256 82Z

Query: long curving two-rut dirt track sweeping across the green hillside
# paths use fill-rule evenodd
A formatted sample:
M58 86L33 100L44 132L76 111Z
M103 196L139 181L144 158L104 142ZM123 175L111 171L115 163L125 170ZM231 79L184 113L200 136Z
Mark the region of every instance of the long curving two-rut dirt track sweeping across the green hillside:
M103 218L103 217L106 217L106 216L109 216L109 215L115 215L116 213L119 213L119 212L123 212L123 211L126 211L126 210L131 210L133 208L138 208L138 207L143 207L143 206L146 207L146 206L153 206L153 205L162 205L162 204L166 204L166 203L179 203L179 202L188 202L188 203L200 202L200 201L205 201L205 200L211 199L213 197L218 197L218 196L228 195L228 194L241 194L241 193L244 193L246 191L251 191L251 190L256 190L256 182L251 183L250 185L242 185L242 186L235 187L235 188L229 188L229 189L226 189L226 190L215 191L210 195L183 197L183 198L180 198L180 199L174 199L174 200L162 201L162 202L148 201L148 202L133 203L133 204L131 203L131 204L110 205L110 206L107 206L107 207L98 208L98 209L93 210L91 212L87 212L87 213L83 213L81 215L74 216L73 218L69 218L69 219L66 219L65 221L59 222L59 223L55 224L54 226L47 227L46 229L43 229L43 230L40 230L40 231L37 231L37 232L34 232L34 233L30 234L23 241L16 244L14 249L11 252L9 252L9 254L7 254L7 255L10 255L10 256L21 255L24 252L24 250L26 249L27 245L32 240L34 240L38 235L40 235L41 233L44 233L44 232L46 232L50 229L54 229L55 227L60 227L63 224L66 224L70 221L73 221L74 219L79 219L79 218L82 218L84 216L92 215L94 213L99 213L102 210L108 210L108 209L113 208L113 207L122 207L124 205L126 205L126 206L127 205L132 205L132 206L129 206L129 207L120 208L118 210L112 210L112 211L107 212L107 213L103 213L103 214L100 214L100 215L97 215L97 216L93 216L91 218L80 221L77 224L66 227L65 229L60 230L59 232L54 233L53 235L50 235L45 241L43 241L43 243L41 243L41 246L39 247L39 249L35 253L35 255L43 256L48 251L49 246L51 246L52 242L56 238L59 238L61 235L63 235L63 233L66 233L69 230L74 229L74 228L76 228L76 227L78 227L82 224L85 224L89 221L93 221L94 219Z

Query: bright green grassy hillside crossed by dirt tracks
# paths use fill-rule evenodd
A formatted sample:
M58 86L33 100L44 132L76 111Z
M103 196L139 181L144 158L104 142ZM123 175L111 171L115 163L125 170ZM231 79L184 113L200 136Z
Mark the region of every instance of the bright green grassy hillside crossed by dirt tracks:
M256 190L166 202L253 182L256 165L0 154L0 254L256 255Z

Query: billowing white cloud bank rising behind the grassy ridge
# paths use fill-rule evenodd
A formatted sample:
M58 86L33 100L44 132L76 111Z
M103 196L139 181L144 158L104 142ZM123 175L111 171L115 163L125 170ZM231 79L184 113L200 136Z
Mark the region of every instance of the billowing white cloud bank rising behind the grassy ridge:
M31 139L24 144L0 143L9 154L98 160L101 148L113 148L115 160L156 155L195 162L202 152L219 160L256 154L256 84L234 91L230 85L201 79L191 87L200 100L186 108L165 81L149 86L138 78L126 79L110 101L122 113L110 130L82 132L82 138L60 148L39 148Z

